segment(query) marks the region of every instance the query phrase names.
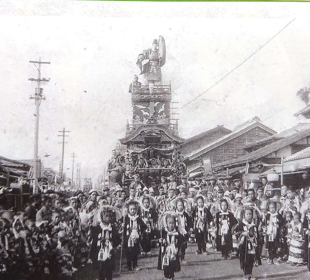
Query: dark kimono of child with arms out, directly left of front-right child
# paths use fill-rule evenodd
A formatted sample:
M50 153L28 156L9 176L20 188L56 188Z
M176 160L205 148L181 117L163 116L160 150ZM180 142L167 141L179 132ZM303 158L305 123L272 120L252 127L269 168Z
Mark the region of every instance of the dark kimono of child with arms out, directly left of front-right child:
M215 214L216 224L216 250L222 251L222 257L227 259L229 251L233 250L232 227L238 223L234 214L223 212L222 210Z

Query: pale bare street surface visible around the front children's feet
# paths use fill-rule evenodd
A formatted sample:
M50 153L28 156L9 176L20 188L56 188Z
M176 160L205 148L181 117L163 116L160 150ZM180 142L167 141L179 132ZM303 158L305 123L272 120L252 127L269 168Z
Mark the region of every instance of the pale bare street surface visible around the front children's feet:
M210 255L196 255L196 244L189 244L186 250L185 259L188 263L181 263L181 271L175 273L176 280L240 280L243 277L240 269L239 259L222 260L220 252L209 249ZM142 256L138 260L140 271L127 271L126 258L122 258L122 270L119 274L119 262L116 263L116 270L113 275L115 280L161 280L162 274L157 270L159 249L152 249L152 256ZM212 252L212 253L211 253ZM119 257L118 257L119 260ZM307 266L292 267L286 263L280 265L267 265L262 261L260 267L253 268L253 275L257 279L276 279L276 280L309 280ZM90 266L81 270L75 275L78 280L96 280L96 272ZM164 277L163 277L164 279Z

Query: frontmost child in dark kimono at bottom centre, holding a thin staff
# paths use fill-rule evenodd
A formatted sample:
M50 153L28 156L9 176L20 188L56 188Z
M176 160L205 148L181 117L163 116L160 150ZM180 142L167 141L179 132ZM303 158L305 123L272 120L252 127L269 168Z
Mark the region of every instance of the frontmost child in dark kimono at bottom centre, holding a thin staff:
M167 279L174 279L174 272L181 271L180 249L184 237L176 229L176 217L172 214L163 215L166 227L160 232L159 245L161 249L158 255L158 270L164 271Z

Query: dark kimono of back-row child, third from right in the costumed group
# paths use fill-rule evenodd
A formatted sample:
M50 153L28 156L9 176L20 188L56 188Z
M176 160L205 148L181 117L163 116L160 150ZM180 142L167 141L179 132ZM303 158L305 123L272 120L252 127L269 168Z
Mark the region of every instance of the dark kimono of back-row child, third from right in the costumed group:
M192 219L194 221L194 233L198 245L198 254L201 254L206 251L209 223L213 220L213 217L206 207L197 207L193 211Z

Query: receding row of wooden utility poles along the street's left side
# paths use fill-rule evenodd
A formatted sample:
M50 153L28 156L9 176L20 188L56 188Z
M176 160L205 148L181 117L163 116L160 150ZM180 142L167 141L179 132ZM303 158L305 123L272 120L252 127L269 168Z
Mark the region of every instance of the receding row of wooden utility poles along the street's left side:
M31 82L37 82L37 87L35 88L35 94L34 96L30 96L30 99L35 100L35 114L34 114L34 173L33 173L33 184L34 184L34 193L38 192L39 184L38 184L38 177L39 177L39 156L38 156L38 147L39 147L39 110L40 110L40 104L41 100L45 100L45 96L43 95L43 88L41 88L41 82L49 82L50 78L47 80L45 78L41 79L41 64L50 64L50 62L41 61L41 57L39 61L29 61L30 63L33 63L34 66L38 70L38 78L29 78L28 80ZM62 137L62 155L61 155L61 163L60 163L60 170L59 175L61 178L61 182L64 181L64 153L65 153L65 137L68 137L69 135L65 135L65 133L70 132L66 131L65 128L63 130L60 130L58 132L62 132L62 135L58 135ZM71 154L72 155L72 154ZM73 163L72 163L72 185L74 186L74 159L76 157L75 153L73 152ZM79 189L81 185L81 178L80 178L80 166L81 164L77 164L77 172L76 172L76 188ZM56 176L56 175L55 175Z

